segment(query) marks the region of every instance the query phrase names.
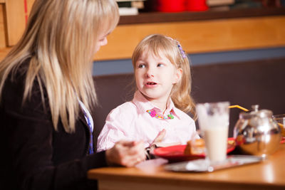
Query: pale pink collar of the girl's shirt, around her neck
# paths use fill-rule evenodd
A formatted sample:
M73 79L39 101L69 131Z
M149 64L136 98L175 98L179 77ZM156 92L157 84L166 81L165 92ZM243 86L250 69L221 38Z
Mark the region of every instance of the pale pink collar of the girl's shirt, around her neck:
M156 107L155 105L152 104L152 102L148 101L142 93L140 93L139 90L135 92L134 98L133 98L133 103L135 104L136 107L138 107L138 112L145 113L147 110L155 110L160 115L162 114L162 110L160 108ZM165 110L164 115L169 115L170 111L173 110L173 116L177 117L177 119L180 120L180 117L176 114L177 113L177 108L175 107L174 103L171 100L171 97L167 101L167 108Z

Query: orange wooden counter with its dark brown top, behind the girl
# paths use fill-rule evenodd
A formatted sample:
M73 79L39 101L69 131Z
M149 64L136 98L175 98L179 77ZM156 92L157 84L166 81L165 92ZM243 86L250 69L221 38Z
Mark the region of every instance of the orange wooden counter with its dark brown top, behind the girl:
M138 42L151 33L176 38L187 53L284 47L285 8L121 16L95 60L131 58Z

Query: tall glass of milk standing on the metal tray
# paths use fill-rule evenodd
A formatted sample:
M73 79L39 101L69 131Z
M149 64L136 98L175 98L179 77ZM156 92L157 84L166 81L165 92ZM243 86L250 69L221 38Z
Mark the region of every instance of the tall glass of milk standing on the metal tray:
M199 129L204 137L206 159L210 163L227 159L229 102L197 104Z

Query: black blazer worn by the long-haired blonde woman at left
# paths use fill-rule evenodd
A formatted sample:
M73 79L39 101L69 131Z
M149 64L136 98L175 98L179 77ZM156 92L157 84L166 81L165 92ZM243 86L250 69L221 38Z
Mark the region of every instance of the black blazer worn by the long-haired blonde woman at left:
M25 73L26 66L14 80L6 80L1 97L0 189L96 189L96 181L86 179L87 171L106 166L105 152L88 155L90 135L83 113L76 132L66 133L61 120L54 130L46 93L44 109L37 80L22 104Z

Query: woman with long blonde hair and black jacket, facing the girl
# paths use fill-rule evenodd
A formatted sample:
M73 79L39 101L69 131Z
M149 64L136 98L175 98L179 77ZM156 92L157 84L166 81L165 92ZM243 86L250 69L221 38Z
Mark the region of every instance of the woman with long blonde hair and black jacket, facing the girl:
M0 63L1 189L96 189L88 169L145 159L140 142L93 153L92 59L118 19L114 0L34 2Z

